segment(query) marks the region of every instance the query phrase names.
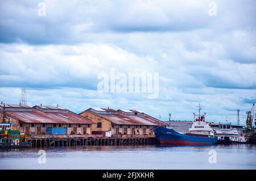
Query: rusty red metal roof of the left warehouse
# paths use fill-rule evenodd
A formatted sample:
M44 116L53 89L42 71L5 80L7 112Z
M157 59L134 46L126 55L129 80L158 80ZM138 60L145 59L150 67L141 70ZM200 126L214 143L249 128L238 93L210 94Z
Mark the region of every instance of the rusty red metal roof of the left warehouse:
M90 119L68 111L42 112L32 108L32 111L6 111L6 114L24 123L61 123L61 124L94 124Z

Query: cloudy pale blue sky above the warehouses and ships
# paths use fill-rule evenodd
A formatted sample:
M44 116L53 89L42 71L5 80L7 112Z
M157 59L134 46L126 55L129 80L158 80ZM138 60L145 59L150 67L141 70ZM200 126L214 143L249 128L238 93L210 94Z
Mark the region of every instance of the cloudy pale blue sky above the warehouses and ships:
M256 103L256 1L0 1L0 101L141 110L245 125ZM158 73L159 96L100 92L98 75Z

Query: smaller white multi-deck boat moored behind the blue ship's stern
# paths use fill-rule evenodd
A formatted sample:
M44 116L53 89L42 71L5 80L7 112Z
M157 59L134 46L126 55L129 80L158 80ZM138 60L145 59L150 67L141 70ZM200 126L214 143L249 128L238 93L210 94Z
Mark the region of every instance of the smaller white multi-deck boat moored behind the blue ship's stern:
M219 129L216 129L218 137L218 144L246 144L245 137L238 133L236 128L233 128L231 123L223 123L218 125Z

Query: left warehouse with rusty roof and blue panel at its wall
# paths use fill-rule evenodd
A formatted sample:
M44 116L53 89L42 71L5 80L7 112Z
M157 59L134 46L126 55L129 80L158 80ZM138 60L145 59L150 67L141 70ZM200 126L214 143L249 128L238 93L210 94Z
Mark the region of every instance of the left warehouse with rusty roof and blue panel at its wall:
M91 120L59 106L34 106L20 104L0 104L0 117L11 120L13 127L28 135L51 134L91 134ZM54 129L59 128L59 129Z

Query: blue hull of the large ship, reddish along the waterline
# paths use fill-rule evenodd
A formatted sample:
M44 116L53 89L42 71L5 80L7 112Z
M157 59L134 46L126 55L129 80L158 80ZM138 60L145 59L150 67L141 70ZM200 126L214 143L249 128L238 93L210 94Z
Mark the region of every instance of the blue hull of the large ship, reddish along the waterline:
M162 145L210 145L218 141L217 137L190 136L165 127L156 127L154 133Z

